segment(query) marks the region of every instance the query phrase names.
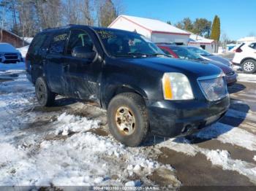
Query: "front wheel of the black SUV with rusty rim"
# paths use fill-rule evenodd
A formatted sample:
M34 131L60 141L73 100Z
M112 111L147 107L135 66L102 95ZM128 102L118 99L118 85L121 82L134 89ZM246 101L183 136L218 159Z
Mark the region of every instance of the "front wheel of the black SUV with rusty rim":
M122 109L123 114L122 114ZM129 110L127 113L127 109ZM128 116L128 117L127 117ZM125 126L122 119L129 120ZM126 121L127 122L127 121ZM121 125L120 125L121 124ZM117 141L129 147L137 147L148 134L148 114L143 98L136 93L116 95L108 105L108 127Z

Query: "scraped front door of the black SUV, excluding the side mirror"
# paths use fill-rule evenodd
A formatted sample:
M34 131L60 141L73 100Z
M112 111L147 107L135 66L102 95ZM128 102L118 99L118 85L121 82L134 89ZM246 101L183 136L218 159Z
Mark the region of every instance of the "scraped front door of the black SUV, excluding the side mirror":
M73 29L71 31L65 57L66 67L64 69L67 82L67 87L65 87L66 94L99 103L102 64L94 58L72 57L71 52L74 47L89 47L89 49L97 51L89 31L81 29Z

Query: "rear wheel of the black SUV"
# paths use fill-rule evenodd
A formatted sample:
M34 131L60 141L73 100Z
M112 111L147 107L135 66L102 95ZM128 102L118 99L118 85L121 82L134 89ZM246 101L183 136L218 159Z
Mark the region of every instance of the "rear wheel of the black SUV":
M35 89L37 101L41 106L52 106L54 104L56 94L49 90L45 79L37 78Z

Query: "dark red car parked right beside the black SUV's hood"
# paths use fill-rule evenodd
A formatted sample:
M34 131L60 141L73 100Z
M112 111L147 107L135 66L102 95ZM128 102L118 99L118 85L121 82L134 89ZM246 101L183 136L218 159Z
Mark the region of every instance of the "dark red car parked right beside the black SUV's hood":
M166 54L173 56L173 58L181 58L181 59L187 59L192 61L199 61L202 63L211 63L215 66L218 66L225 74L227 85L233 85L237 82L237 74L233 69L231 69L229 66L219 63L217 61L208 61L204 59L204 57L195 54L192 52L189 47L184 46L175 46L175 45L167 45L167 44L157 44L159 48L161 48L162 51L164 51Z

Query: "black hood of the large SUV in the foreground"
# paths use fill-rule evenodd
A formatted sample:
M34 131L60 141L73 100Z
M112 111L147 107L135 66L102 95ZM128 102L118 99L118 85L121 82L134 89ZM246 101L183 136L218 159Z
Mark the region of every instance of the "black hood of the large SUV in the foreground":
M206 77L221 73L219 67L206 62L187 61L176 58L127 58L125 62L132 65L149 67L163 72L181 72L195 77Z

